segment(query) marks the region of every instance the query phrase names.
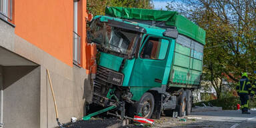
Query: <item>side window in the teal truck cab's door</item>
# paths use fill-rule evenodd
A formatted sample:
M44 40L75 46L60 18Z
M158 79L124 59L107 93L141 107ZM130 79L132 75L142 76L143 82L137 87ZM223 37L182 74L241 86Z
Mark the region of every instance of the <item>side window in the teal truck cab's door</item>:
M169 41L155 37L149 37L145 43L141 58L143 59L165 59Z

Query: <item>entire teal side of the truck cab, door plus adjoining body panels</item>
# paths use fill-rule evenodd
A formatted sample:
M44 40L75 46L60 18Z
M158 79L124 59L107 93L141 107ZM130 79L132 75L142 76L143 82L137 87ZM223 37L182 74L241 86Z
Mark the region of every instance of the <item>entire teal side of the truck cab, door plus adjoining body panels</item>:
M157 55L156 58L146 58L143 57L145 49L148 48L150 42L154 42L153 49L157 48L156 53L153 53L154 50L151 51L151 55ZM133 72L131 73L131 79L129 82L129 87L131 87L130 91L133 93L132 99L135 101L139 101L140 97L152 88L159 87L161 88L162 84L167 84L169 79L170 72L169 69L166 68L167 60L171 59L173 56L171 51L174 49L174 39L168 39L165 37L159 37L155 35L149 35L145 41L143 41L143 45L139 50L139 57L135 59ZM158 44L158 45L157 45ZM154 46L155 45L155 46ZM154 51L155 52L155 51ZM171 62L169 62L171 63Z

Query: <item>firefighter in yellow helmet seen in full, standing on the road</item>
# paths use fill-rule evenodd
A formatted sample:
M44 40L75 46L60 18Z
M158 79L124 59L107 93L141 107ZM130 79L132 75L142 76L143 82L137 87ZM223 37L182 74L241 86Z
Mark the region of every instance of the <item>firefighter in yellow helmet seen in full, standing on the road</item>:
M251 114L248 112L249 94L251 91L251 83L247 73L243 73L242 78L237 84L237 93L240 96L242 114Z

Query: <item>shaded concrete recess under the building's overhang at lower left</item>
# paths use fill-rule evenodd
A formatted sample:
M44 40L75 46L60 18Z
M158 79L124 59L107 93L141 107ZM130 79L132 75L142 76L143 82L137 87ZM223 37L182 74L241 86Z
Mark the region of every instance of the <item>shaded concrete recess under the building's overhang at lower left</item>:
M3 67L4 127L39 127L40 67Z

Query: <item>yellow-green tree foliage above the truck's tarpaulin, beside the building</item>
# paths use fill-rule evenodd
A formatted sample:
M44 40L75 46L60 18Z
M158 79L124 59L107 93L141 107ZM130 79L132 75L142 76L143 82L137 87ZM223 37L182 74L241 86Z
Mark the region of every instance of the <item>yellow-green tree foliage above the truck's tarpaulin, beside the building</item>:
M153 9L151 0L87 0L87 10L93 15L104 15L107 6Z

